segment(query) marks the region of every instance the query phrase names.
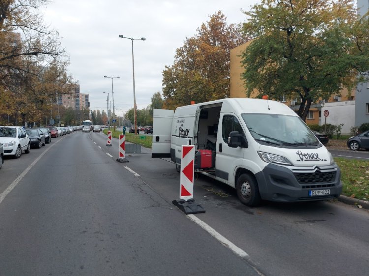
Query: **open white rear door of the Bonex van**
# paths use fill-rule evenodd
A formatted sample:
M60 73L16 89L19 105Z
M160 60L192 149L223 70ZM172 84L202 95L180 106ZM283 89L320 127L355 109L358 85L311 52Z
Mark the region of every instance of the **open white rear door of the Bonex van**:
M151 157L170 157L174 111L168 109L154 109L153 111L153 148Z

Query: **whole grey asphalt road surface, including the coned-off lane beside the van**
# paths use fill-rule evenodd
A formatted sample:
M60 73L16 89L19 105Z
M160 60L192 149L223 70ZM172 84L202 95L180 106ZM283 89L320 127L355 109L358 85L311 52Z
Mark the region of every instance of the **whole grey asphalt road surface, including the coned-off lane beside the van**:
M196 175L206 213L190 220L171 203L179 174L170 160L118 163L112 144L77 132L5 160L0 194L44 154L0 202L2 275L368 275L368 211L338 201L249 208Z

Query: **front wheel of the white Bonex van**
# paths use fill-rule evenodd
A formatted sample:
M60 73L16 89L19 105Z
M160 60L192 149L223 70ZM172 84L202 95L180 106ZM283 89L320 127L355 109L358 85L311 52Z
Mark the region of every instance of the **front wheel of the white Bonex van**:
M249 174L241 174L237 179L236 192L238 199L247 206L257 206L261 201L256 179Z

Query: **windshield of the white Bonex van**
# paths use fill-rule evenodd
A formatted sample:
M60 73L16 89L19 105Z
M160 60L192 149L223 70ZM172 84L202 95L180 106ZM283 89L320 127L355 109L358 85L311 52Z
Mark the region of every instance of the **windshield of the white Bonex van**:
M241 116L256 141L276 145L319 145L318 139L300 117L247 113Z

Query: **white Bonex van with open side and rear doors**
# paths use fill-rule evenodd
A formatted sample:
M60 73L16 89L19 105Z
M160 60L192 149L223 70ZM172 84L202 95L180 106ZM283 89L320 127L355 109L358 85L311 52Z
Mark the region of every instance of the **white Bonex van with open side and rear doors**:
M187 144L197 151L195 171L234 187L248 206L332 199L342 191L332 155L283 103L231 98L154 109L152 157L170 157L179 171ZM203 153L211 155L205 165Z

